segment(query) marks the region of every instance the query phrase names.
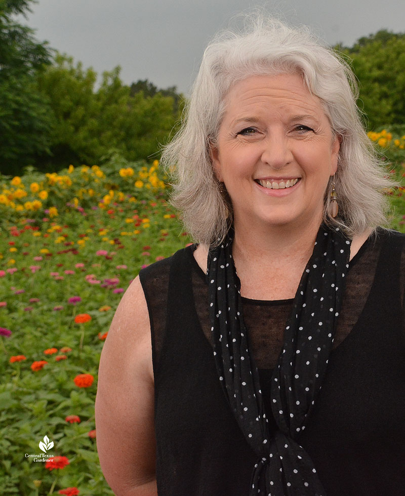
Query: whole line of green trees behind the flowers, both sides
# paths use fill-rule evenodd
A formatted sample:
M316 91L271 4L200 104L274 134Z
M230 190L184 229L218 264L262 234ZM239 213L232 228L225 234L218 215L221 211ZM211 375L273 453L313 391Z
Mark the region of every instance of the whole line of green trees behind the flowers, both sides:
M0 0L0 173L31 165L158 158L175 129L183 95L147 79L125 85L120 68L97 73L39 43L17 22L33 0ZM381 30L353 47L337 46L360 84L358 104L369 130L405 124L405 34Z

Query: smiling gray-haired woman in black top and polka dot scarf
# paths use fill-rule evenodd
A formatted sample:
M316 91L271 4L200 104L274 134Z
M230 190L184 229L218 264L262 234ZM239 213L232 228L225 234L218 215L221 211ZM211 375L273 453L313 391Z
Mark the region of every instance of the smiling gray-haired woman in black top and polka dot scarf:
M101 357L116 494L403 494L404 237L354 87L278 21L207 48L164 152L196 244L141 271Z

